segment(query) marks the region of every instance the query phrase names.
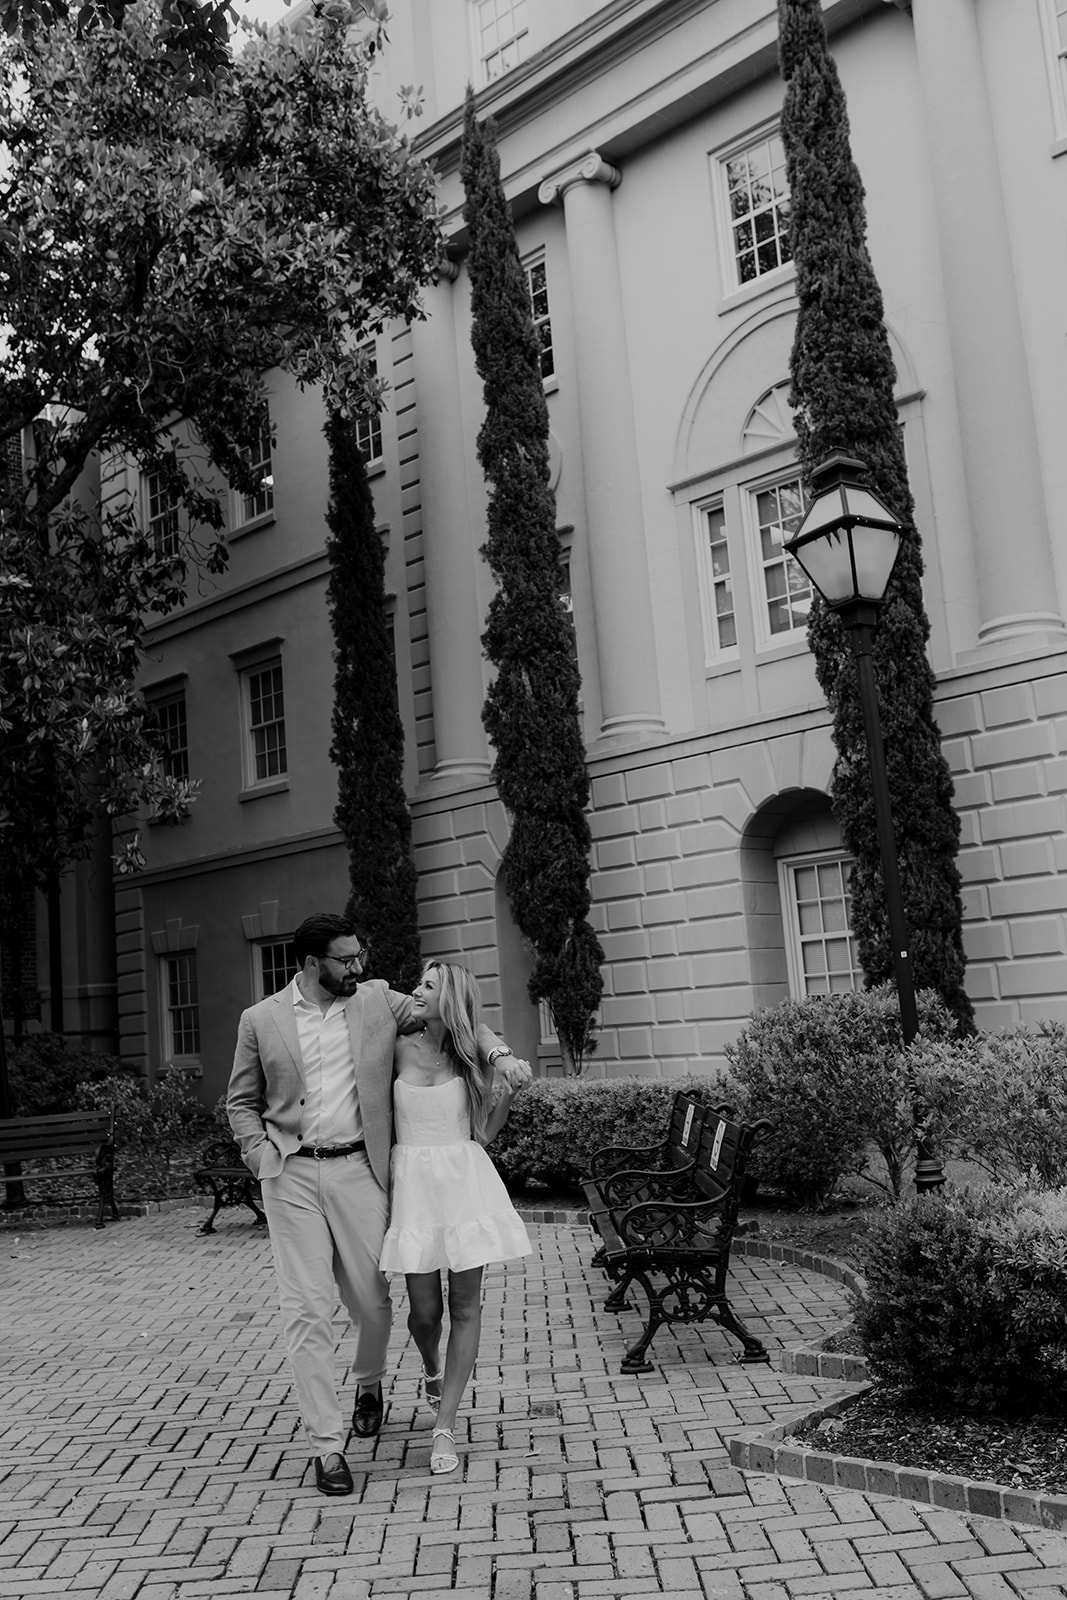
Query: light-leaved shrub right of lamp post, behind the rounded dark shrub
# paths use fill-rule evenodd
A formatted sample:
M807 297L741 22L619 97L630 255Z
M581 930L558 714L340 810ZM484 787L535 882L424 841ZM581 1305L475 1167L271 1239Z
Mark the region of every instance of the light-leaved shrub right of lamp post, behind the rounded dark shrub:
M937 1144L993 1179L1054 1187L1067 1174L1067 1029L1045 1022L917 1040L907 1069Z

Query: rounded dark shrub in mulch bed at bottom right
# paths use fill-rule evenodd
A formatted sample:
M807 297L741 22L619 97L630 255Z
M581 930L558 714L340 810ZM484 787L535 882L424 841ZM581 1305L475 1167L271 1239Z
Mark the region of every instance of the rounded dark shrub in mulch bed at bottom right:
M1067 1374L1067 1189L920 1195L875 1218L856 1326L918 1400L1043 1406Z

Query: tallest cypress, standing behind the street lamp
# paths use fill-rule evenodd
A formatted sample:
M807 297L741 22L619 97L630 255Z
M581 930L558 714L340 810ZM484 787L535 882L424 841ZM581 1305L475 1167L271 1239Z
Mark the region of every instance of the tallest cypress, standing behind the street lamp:
M819 0L779 0L777 16L797 264L790 398L800 466L809 480L813 467L833 450L856 456L904 528L873 643L904 912L917 989L936 989L958 1021L971 1027L971 1002L963 989L960 819L934 720L923 555L893 398L896 373L881 290L867 251L864 187ZM808 640L833 715L832 800L841 838L856 861L853 926L859 958L867 982L878 984L893 978L893 960L856 664L846 629L817 597Z

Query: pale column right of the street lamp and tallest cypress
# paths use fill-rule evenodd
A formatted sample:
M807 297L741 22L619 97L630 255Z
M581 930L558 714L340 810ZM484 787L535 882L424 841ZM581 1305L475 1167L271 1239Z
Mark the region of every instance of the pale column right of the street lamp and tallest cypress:
M974 0L913 0L963 469L979 658L1067 643Z

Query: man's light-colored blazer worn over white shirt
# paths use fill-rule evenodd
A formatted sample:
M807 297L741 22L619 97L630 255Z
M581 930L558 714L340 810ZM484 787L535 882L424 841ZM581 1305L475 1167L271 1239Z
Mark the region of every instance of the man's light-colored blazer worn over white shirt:
M382 1189L389 1189L394 1046L397 1034L410 1027L411 1014L411 995L398 994L381 978L360 984L346 1002L366 1158ZM483 1054L499 1043L485 1024L478 1029ZM226 1096L234 1138L256 1178L277 1178L301 1142L304 1096L304 1061L286 984L242 1013Z

